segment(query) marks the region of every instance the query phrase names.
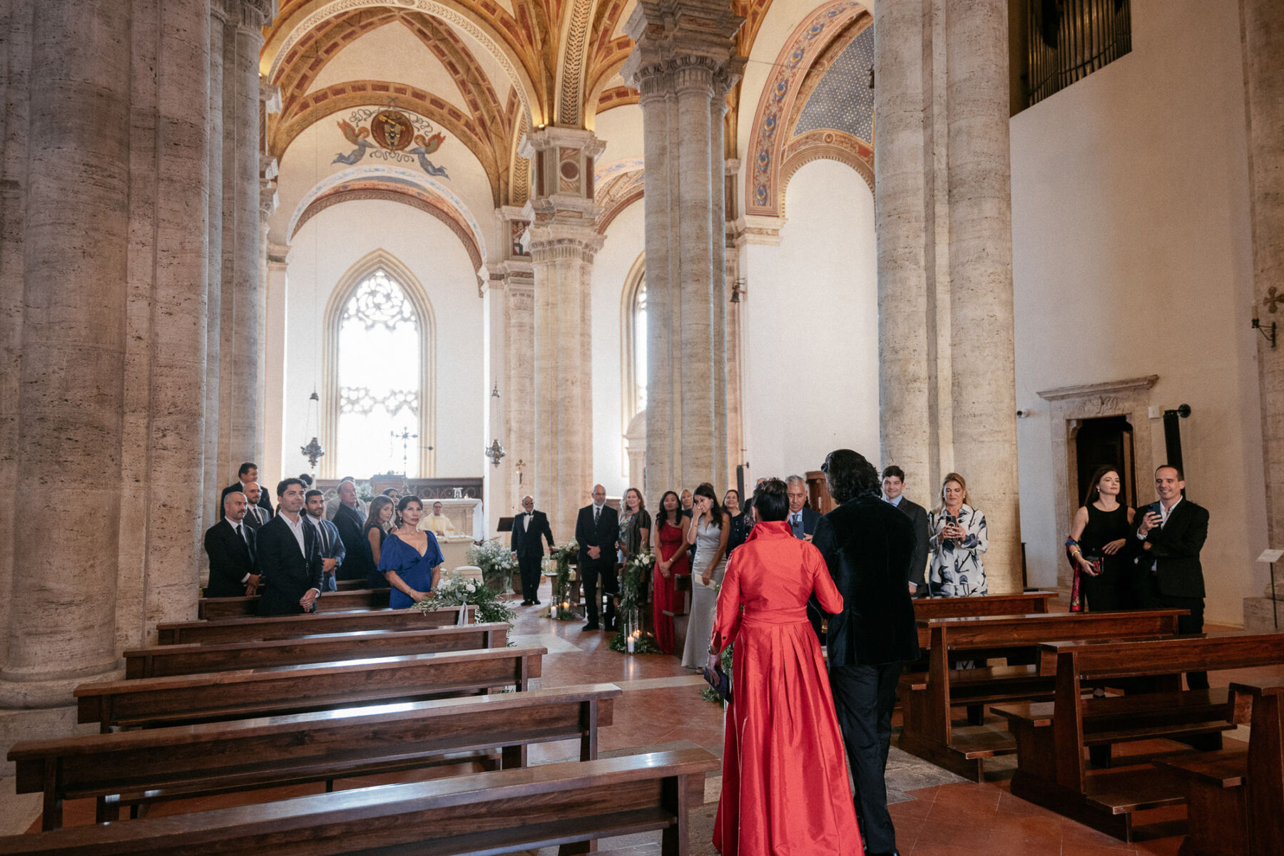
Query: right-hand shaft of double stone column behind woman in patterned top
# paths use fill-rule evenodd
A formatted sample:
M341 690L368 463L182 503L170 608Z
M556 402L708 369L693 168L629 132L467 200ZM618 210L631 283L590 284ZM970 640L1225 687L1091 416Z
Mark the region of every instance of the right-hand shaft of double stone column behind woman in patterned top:
M1000 594L1021 590L1008 4L946 0L945 14L954 462L985 512Z

